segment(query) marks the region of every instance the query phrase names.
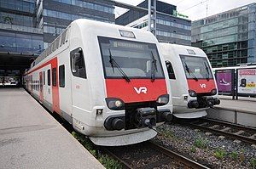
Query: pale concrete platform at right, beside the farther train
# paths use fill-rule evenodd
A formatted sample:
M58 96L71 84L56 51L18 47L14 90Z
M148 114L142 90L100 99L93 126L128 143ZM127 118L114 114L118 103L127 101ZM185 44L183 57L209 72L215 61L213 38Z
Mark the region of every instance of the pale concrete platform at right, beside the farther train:
M219 105L214 106L214 109L207 110L208 118L256 127L255 98L232 100L227 97L219 97L219 99Z

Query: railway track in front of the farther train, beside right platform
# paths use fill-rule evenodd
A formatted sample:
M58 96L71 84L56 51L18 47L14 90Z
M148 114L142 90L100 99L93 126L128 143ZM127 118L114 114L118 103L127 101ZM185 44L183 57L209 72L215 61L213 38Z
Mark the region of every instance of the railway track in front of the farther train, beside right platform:
M180 121L179 121L180 122ZM244 127L224 121L202 118L197 121L182 121L183 125L194 127L206 132L240 140L247 144L256 143L256 128Z

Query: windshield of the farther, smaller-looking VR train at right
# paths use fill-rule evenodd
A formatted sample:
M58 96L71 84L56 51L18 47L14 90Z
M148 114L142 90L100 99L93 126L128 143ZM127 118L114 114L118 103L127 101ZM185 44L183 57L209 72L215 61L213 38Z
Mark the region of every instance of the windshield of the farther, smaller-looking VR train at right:
M212 79L212 70L207 58L180 55L188 79Z

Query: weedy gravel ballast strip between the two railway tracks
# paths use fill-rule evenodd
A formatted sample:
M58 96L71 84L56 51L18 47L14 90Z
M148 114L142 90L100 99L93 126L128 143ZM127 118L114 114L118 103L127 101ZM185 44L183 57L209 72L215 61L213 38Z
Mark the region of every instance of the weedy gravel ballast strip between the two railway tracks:
M210 168L256 168L250 162L256 158L256 149L251 144L237 144L233 139L176 123L162 125L157 130L161 134L154 142Z

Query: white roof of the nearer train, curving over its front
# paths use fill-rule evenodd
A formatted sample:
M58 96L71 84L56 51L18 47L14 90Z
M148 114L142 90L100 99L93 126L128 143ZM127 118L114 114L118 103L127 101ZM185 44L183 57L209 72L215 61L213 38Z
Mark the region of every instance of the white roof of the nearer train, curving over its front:
M73 20L73 22L67 26L65 31L61 32L61 34L55 38L55 40L49 45L48 48L44 49L44 52L38 56L32 62L30 70L33 67L38 65L43 59L45 59L49 54L55 52L56 49L61 48L68 40L70 39L70 27L76 27L74 32L81 33L81 31L87 31L91 34L102 31L102 35L111 34L111 37L119 37L120 39L127 39L125 36L120 36L120 31L132 32L135 38L128 37L130 40L139 39L141 42L157 42L157 39L153 36L153 34L149 31L132 28L124 25L114 25L106 22L96 21L96 20L87 20L87 19L78 19ZM29 70L28 70L29 71Z

